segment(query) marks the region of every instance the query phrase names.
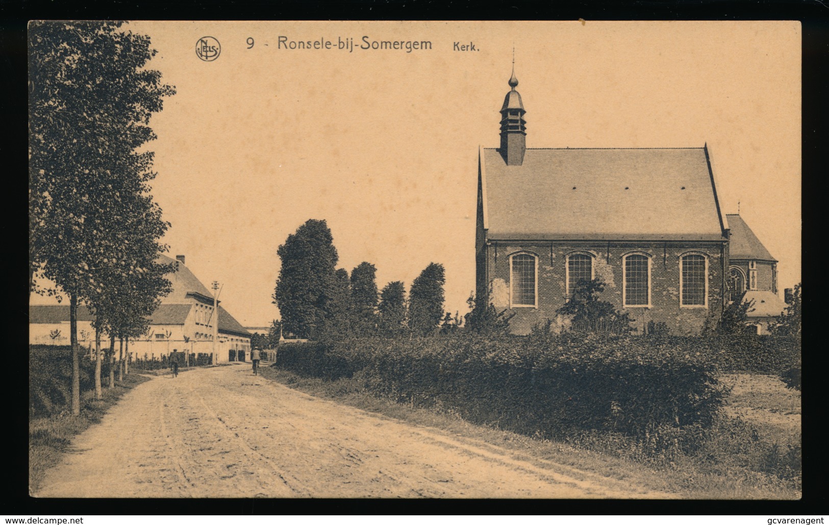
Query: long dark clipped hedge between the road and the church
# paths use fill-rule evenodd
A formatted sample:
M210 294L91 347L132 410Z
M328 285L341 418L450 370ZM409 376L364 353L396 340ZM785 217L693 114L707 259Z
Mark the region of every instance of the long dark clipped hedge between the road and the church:
M445 335L280 348L276 366L534 434L614 431L657 448L692 446L726 389L715 356L641 336ZM660 442L664 441L664 442Z

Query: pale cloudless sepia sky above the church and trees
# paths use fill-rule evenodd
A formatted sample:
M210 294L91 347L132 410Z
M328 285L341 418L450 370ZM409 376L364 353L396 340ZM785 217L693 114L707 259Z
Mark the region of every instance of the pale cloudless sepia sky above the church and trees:
M740 214L800 281L799 22L131 22L177 94L151 121L168 255L242 325L279 317L276 249L327 219L349 273L410 287L446 268L447 311L474 288L478 146L497 147L515 47L527 147L702 147ZM216 60L196 41L221 42ZM279 49L354 38L353 52ZM430 41L431 50L362 50ZM254 46L248 49L248 37ZM453 51L454 42L476 51ZM37 299L36 301L44 301Z

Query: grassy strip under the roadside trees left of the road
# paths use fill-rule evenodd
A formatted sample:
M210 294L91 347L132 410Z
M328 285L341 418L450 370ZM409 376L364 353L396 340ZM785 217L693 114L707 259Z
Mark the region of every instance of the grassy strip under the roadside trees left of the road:
M130 373L124 376L123 381L116 382L114 388L104 387L99 400L95 399L94 392L82 393L79 416L73 416L66 410L50 417L32 417L29 420L29 494L35 494L40 489L46 470L61 461L73 437L99 423L109 407L145 381L149 378Z

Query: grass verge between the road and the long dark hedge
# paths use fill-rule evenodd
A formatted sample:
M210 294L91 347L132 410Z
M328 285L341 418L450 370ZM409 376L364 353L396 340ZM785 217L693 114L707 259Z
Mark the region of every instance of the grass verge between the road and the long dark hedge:
M502 430L497 424L475 425L463 420L451 408L422 408L377 397L354 379L325 381L305 378L296 373L274 367L262 368L262 375L288 388L295 388L313 396L331 399L342 404L375 412L386 417L429 426L441 431L509 450L520 460L550 461L622 481L632 486L673 494L681 499L799 499L798 480L780 479L751 470L739 460L725 461L720 457L682 456L672 460L633 459L626 455L624 439L618 436L588 436L582 443L563 443L543 436L526 436ZM725 429L723 429L725 431ZM725 451L730 436L724 443L711 443Z

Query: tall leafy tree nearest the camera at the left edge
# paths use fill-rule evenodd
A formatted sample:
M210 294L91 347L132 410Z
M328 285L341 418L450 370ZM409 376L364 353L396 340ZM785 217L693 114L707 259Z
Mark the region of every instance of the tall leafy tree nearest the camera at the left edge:
M153 207L148 182L156 175L153 152L137 149L155 138L149 118L175 94L158 71L145 67L156 53L149 37L123 31L123 24L29 26L29 287L69 296L75 414L77 306L106 294L102 269L128 272L117 256L133 221L157 218L137 204L143 199ZM59 289L38 287L36 275Z

